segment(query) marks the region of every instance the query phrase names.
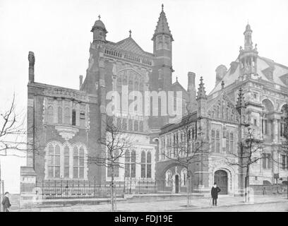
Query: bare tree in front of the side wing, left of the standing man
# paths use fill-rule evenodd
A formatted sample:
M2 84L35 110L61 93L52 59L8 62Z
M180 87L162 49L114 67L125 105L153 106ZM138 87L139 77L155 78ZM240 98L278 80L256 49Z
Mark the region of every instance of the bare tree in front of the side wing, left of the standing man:
M201 129L197 130L197 124L191 126L191 123L191 114L181 119L180 137L178 133L174 135L174 140L166 145L167 152L162 151L164 157L186 169L187 206L191 206L191 165L204 164L209 154L208 142L203 138Z

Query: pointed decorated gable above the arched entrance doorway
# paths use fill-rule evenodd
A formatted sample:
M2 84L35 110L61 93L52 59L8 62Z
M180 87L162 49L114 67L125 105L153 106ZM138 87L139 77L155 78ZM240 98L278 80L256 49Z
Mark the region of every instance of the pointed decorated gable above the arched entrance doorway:
M208 117L224 121L239 122L239 112L226 93L210 101L208 106Z

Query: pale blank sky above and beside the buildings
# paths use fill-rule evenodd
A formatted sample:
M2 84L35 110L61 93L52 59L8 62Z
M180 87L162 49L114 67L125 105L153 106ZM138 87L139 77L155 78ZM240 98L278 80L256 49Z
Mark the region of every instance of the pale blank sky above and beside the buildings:
M107 40L119 42L131 30L140 47L152 52L161 4L174 37L173 81L177 76L184 88L188 71L196 73L196 84L203 76L208 93L214 88L217 66L229 69L244 46L247 23L259 55L288 66L287 0L0 0L0 112L13 92L18 110L27 109L29 51L35 53L36 82L78 89L98 15ZM16 191L25 160L5 158L2 174L13 177L8 188Z

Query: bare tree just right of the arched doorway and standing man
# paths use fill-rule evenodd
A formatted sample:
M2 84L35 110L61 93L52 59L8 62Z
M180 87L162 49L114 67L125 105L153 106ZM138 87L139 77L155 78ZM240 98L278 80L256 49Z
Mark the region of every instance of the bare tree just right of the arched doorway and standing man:
M258 162L258 160L263 158L263 146L262 141L257 138L254 138L253 131L251 127L246 124L247 128L247 137L245 141L240 141L240 151L239 153L231 153L238 161L234 162L228 157L226 157L227 165L236 165L241 169L246 169L245 172L245 202L249 201L249 176L251 165Z

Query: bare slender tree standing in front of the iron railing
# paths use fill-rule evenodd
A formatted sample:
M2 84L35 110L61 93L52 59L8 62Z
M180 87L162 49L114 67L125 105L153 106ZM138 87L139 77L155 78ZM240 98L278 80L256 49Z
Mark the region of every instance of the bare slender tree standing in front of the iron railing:
M133 139L130 133L126 133L122 124L114 123L112 117L107 119L106 138L100 138L98 143L101 146L101 152L96 156L88 156L88 161L96 165L104 166L111 174L111 207L116 210L116 189L115 176L119 173L119 168L123 168L126 150L133 148Z

